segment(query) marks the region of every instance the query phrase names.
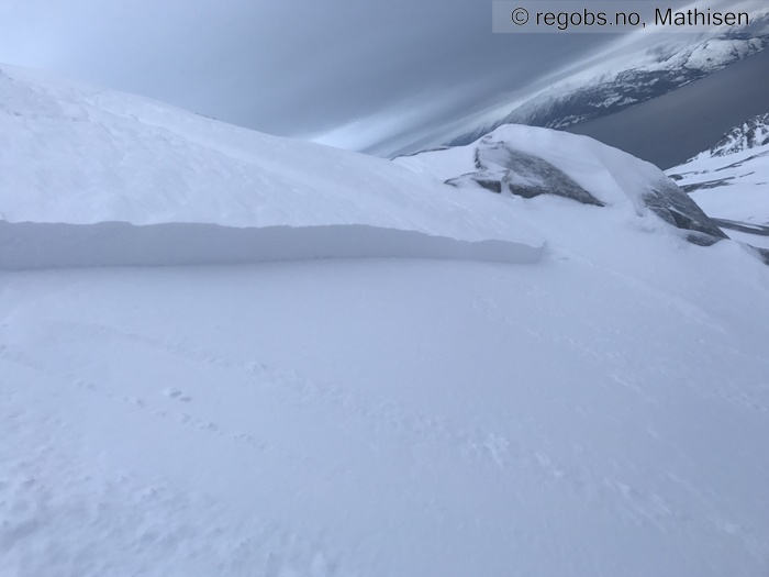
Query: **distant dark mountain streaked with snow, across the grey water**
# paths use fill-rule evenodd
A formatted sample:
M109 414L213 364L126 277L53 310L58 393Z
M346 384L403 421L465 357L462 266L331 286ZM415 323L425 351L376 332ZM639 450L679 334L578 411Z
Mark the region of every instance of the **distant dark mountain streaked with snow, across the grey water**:
M629 67L603 71L592 78L567 78L515 107L499 121L478 126L448 144L469 144L502 124L565 129L651 100L769 47L769 15L757 19L751 30L676 49L662 46Z

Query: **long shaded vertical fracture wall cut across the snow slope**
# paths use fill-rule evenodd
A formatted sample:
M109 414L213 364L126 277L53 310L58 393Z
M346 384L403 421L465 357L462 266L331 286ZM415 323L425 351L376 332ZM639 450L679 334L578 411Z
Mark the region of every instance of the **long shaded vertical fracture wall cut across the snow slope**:
M234 265L317 258L439 258L536 263L544 245L461 241L365 224L238 229L0 221L0 269Z

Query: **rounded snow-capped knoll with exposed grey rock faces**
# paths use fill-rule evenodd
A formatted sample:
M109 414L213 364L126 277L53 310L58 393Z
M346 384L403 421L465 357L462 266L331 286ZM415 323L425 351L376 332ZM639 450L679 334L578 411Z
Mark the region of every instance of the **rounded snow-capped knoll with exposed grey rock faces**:
M509 124L465 147L395 162L434 169L439 178L454 174L445 181L456 187L527 199L564 197L609 210L631 206L638 215L650 211L695 244L726 238L657 167L584 136Z

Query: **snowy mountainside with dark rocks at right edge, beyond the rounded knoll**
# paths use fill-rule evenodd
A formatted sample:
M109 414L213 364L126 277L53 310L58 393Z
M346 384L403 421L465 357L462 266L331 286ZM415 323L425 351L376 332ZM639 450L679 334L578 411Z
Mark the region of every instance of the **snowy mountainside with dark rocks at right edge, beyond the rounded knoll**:
M667 174L729 236L769 249L769 114L735 126Z

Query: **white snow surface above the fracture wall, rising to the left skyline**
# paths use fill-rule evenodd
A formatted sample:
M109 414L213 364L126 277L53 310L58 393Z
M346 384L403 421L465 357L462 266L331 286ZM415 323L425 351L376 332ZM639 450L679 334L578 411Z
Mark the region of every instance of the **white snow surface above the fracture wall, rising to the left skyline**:
M437 191L384 159L0 70L0 219L8 222L367 224L540 244L512 208Z

